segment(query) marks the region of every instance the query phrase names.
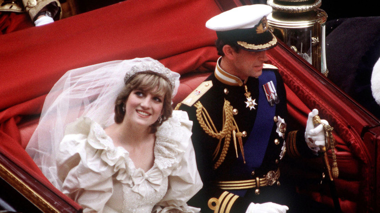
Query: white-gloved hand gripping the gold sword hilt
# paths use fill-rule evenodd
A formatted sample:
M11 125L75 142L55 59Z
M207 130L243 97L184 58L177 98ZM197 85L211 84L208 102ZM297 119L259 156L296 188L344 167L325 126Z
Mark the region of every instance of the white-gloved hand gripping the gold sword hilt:
M309 113L309 117L306 122L306 130L305 130L305 141L309 148L313 150L315 155L318 155L318 151L320 150L320 146L326 145L323 125L319 124L317 127L314 127L313 117L318 115L318 109L313 109ZM321 123L328 125L326 120L321 119Z

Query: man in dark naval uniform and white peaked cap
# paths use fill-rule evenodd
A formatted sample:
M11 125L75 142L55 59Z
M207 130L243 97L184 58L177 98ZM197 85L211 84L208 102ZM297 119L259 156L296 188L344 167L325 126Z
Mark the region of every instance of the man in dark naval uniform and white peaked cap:
M207 21L206 27L216 31L221 57L214 73L176 107L193 121L204 188L189 204L202 213L298 212L302 204L314 208L313 202L294 202L298 195L280 184L285 153L316 156L325 139L322 125L312 123L316 109L305 132L286 131L284 83L278 69L265 64L266 50L277 44L266 19L271 11L264 4L247 5Z

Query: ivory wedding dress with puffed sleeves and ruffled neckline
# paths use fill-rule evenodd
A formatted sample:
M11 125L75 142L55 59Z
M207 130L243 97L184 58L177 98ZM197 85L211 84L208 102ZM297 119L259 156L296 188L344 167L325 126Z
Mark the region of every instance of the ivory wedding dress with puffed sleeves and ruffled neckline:
M154 165L144 172L123 147L114 146L100 124L78 118L66 127L59 146L62 192L84 212L199 212L186 204L202 188L191 125L186 112L173 111L157 129Z

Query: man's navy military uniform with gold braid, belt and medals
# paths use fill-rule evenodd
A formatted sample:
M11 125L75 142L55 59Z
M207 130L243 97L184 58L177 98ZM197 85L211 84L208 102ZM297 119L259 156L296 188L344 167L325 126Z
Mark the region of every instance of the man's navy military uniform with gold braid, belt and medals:
M267 69L268 67L269 69ZM233 82L231 83L229 80ZM265 91L261 89L263 84L270 81L275 82L278 97L277 104L274 103L273 106L266 99ZM256 103L252 109L246 103L245 86L250 92L251 99ZM226 103L230 106L229 108L224 107ZM284 83L274 66L265 65L263 74L259 78L249 77L246 82L229 75L217 66L216 71L177 108L187 111L190 120L193 121L191 139L204 188L190 200L190 205L201 207L202 213L226 212L226 208L233 213L245 212L250 202L274 202L274 199L262 200L261 197L266 196L266 191L269 190L270 197L276 198L273 190L280 191L282 188L279 181L279 165L284 155L284 147L290 151L291 155L305 152L311 155L304 142L303 134L291 132L286 144L285 132L283 137L277 132L279 120L286 121L287 119L287 108ZM202 114L202 109L205 112L203 122L199 116ZM272 114L267 113L270 110L272 110ZM212 123L217 130L215 132L221 132L228 125L226 122L227 111L233 115L231 128L236 129L237 126L239 131L235 130L235 136L232 131L228 136L229 140L226 140L226 137L222 140L212 137L205 131L202 124ZM258 114L258 111L266 114L265 117ZM212 124L209 125L212 126ZM255 126L257 130L253 138L265 141L261 141L259 147L250 147L248 150L247 141L254 134L251 131L255 124L258 126ZM264 129L268 129L266 133ZM237 132L242 133L241 141L244 145L246 163L242 158ZM262 136L262 134L266 135ZM237 143L236 149L234 138ZM296 140L297 138L298 140ZM219 141L221 142L219 143ZM297 141L299 141L298 144ZM227 154L224 156L223 151L226 149ZM274 175L270 183L269 180L266 180L268 173ZM257 182L261 183L261 186L258 186L257 178L259 180ZM221 209L222 206L224 209ZM215 208L219 209L215 211Z

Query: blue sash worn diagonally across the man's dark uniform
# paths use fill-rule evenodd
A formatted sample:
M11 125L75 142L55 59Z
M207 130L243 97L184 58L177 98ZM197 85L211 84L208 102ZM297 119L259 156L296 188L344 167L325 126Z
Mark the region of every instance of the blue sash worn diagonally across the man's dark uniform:
M276 105L270 106L266 99L263 85L272 81L277 89L276 75L273 71L263 71L259 77L259 100L257 104L257 115L249 137L244 144L244 164L242 154L236 160L234 171L250 174L255 168L259 168L263 162L266 147L269 142L273 128L273 117L276 112ZM244 196L247 190L228 190L235 195Z

